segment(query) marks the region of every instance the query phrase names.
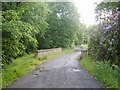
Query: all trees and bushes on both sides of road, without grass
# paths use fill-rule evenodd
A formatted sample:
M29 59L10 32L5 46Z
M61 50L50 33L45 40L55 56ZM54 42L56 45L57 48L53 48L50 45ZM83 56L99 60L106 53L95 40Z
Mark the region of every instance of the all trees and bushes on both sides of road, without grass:
M36 49L72 48L88 43L89 55L96 60L120 61L118 2L96 7L98 25L86 28L72 2L3 2L2 62Z

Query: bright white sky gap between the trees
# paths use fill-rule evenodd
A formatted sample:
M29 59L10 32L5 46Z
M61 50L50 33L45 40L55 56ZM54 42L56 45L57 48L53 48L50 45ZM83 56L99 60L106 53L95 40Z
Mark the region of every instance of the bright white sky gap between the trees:
M95 3L100 3L102 0L73 0L78 12L80 13L80 18L86 25L95 24L95 13L94 9L96 7Z

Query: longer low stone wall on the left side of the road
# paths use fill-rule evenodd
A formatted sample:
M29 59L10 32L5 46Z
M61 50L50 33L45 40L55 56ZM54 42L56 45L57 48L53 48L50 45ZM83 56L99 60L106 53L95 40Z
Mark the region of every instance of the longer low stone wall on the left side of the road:
M54 52L60 52L61 50L62 48L43 49L43 50L36 50L34 53L35 53L35 56L41 57L48 54L52 54Z

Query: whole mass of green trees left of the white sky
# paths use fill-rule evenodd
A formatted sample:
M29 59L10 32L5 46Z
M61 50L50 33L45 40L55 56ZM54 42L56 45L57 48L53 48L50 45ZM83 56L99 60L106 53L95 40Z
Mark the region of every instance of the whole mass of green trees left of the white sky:
M2 3L3 64L36 49L71 48L82 41L73 3Z

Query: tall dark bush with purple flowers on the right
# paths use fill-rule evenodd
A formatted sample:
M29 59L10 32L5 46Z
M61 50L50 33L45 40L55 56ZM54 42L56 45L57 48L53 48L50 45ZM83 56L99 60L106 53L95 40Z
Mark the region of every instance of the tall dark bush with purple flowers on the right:
M98 26L92 28L89 54L96 60L120 62L120 10L118 2L100 3L96 7Z

